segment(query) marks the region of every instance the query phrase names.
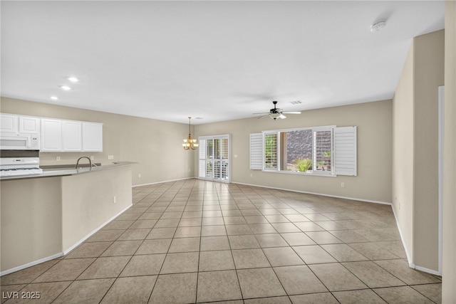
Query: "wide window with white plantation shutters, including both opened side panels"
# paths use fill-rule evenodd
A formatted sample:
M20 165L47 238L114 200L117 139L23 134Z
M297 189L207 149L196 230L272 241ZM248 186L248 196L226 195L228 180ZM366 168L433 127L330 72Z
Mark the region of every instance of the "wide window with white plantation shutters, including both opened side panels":
M251 134L250 169L356 175L356 127L311 127Z

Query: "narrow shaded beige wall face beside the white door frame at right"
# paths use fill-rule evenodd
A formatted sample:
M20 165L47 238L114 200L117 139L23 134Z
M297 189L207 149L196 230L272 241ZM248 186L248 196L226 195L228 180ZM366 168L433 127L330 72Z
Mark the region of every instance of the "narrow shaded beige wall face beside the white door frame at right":
M414 42L414 263L438 271L438 87L444 85L445 31Z

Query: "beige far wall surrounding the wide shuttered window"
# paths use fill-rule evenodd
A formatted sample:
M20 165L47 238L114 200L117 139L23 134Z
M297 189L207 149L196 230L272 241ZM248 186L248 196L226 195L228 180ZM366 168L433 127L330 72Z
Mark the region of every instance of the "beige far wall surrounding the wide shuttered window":
M286 120L256 117L195 126L195 135L232 134L232 182L369 201L391 199L391 100L309 110ZM337 125L358 127L358 176L317 177L249 169L249 134L262 130ZM195 156L195 164L197 158ZM197 174L197 172L195 172ZM341 187L341 182L345 187Z

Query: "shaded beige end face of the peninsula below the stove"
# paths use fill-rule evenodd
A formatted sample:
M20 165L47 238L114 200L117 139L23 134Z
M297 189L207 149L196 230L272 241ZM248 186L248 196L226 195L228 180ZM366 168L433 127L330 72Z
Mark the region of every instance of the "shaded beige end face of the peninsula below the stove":
M1 271L62 252L61 199L59 177L1 181Z

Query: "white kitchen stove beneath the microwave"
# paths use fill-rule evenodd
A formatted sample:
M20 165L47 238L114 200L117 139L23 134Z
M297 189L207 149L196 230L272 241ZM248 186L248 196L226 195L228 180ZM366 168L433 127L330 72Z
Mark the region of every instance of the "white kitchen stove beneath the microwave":
M39 157L0 157L0 177L41 174Z

